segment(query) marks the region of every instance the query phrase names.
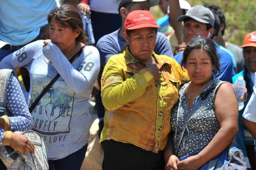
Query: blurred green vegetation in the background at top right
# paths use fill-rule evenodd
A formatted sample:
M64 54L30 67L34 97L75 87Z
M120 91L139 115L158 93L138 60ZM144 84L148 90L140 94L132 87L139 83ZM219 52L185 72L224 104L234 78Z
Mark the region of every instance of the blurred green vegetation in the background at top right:
M218 5L226 17L224 39L236 45L242 45L249 32L256 31L256 0L187 0L193 7L204 2ZM164 16L157 6L150 11L155 19Z

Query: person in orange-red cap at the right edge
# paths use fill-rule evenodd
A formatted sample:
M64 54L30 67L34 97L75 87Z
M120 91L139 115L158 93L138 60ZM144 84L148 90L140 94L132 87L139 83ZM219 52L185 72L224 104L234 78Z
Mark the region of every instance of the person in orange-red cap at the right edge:
M256 31L248 33L244 39L244 44L240 46L243 48L243 55L245 58L245 69L239 72L232 78L233 83L238 79L238 76L243 76L246 81L247 88L247 101L245 101L245 106L242 110L239 110L239 120L238 120L238 134L236 137L238 147L241 149L245 155L247 161L247 168L251 170L256 170L255 153L254 153L254 140L252 136L254 132L251 131L254 126L250 123L253 120L253 114L251 111L246 111L246 106L249 99L253 93L253 87L255 84L255 72L256 72ZM254 103L255 105L255 103ZM245 113L243 115L243 113ZM242 124L242 115L245 117L245 125ZM247 129L248 128L248 129ZM249 131L251 134L249 133Z

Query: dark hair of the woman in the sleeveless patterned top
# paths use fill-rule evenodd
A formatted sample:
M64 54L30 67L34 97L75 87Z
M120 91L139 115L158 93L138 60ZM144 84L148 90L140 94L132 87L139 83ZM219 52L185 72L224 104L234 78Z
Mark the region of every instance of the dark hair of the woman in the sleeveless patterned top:
M186 65L187 58L194 49L204 50L210 56L212 66L215 67L212 70L213 74L217 75L218 72L220 73L219 55L217 54L215 43L210 38L192 38L183 52L182 66Z

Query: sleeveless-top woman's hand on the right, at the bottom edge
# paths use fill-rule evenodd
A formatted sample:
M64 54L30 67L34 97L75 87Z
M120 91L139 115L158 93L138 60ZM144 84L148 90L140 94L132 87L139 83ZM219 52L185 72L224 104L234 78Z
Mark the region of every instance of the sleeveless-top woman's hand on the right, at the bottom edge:
M198 170L201 166L201 162L197 155L190 156L177 163L178 170Z

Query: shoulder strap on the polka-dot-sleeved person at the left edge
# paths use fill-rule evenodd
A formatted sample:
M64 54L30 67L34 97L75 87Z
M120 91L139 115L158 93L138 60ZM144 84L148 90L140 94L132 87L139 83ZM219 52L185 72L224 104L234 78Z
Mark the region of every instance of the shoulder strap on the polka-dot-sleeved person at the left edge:
M7 99L7 86L10 75L15 75L14 70L2 69L0 70L0 116L8 115L5 105Z

